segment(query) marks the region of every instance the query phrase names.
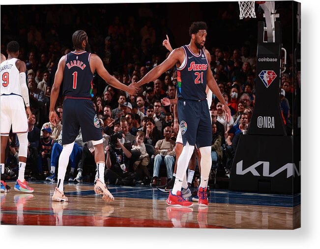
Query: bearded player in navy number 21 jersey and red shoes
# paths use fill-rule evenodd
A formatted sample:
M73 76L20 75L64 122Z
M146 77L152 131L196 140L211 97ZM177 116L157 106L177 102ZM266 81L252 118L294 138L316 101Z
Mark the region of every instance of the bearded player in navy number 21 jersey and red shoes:
M183 140L183 149L177 163L175 185L169 194L167 204L191 207L192 202L181 196L181 186L195 145L201 152L201 183L198 190L199 205L208 206L206 187L211 168L211 118L206 101L205 88L208 85L213 94L224 103L226 119L231 118L225 102L210 69L210 54L204 49L207 26L196 22L189 28L191 41L188 45L175 49L168 58L148 72L137 84L141 86L154 81L162 73L177 64L178 119Z

